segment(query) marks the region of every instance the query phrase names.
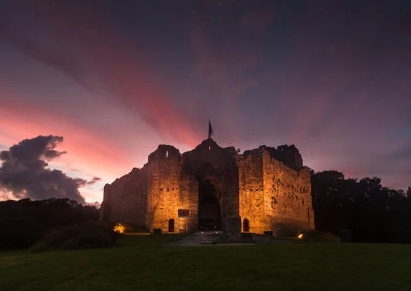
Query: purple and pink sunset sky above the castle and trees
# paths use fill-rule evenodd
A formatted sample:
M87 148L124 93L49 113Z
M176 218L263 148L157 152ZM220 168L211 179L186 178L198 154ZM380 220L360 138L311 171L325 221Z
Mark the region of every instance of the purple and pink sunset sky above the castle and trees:
M58 177L40 190L101 202L208 118L221 147L295 144L316 171L406 189L410 52L408 0L0 0L0 169L19 185L0 196Z

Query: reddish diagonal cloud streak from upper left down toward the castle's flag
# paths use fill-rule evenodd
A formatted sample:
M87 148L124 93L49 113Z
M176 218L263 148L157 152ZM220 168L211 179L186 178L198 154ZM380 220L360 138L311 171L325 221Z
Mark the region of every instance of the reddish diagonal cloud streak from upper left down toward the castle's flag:
M78 9L85 13L79 14ZM28 18L42 19L41 27L53 27L45 37L53 36L79 52L75 58L65 50L56 51L37 43L39 40L36 42L21 32L27 29L16 29L12 21L3 25L3 35L25 54L53 66L92 94L105 92L105 98L111 95L112 103L129 110L129 114L138 114L166 140L195 146L201 140L199 134L171 103L171 94L162 88L150 64L138 55L138 51L130 49L132 44L121 38L121 33L114 33L108 27L104 16L90 11L88 5L77 7L74 3L59 3L53 10L47 5L38 5L27 12ZM72 18L77 21L63 21Z

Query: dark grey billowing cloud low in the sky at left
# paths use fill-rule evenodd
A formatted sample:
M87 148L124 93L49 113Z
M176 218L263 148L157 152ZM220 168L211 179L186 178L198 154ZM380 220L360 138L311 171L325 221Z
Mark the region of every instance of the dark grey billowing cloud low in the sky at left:
M55 147L63 141L61 136L38 136L14 144L8 151L0 152L0 190L12 192L15 199L69 198L85 203L78 188L100 181L73 179L61 170L51 170L46 161L63 155Z

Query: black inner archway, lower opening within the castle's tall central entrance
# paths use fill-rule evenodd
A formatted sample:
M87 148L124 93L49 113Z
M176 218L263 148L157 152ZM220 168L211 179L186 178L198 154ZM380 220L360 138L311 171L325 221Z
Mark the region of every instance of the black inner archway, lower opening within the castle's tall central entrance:
M221 230L221 210L219 200L210 194L199 201L199 229L201 231Z

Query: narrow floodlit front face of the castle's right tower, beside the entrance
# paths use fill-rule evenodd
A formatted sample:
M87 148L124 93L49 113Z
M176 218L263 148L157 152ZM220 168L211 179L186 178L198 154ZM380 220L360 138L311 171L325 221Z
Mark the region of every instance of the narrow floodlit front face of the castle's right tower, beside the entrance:
M238 157L239 202L242 230L244 219L249 220L249 231L263 233L268 229L264 215L264 179L262 149L245 152Z

